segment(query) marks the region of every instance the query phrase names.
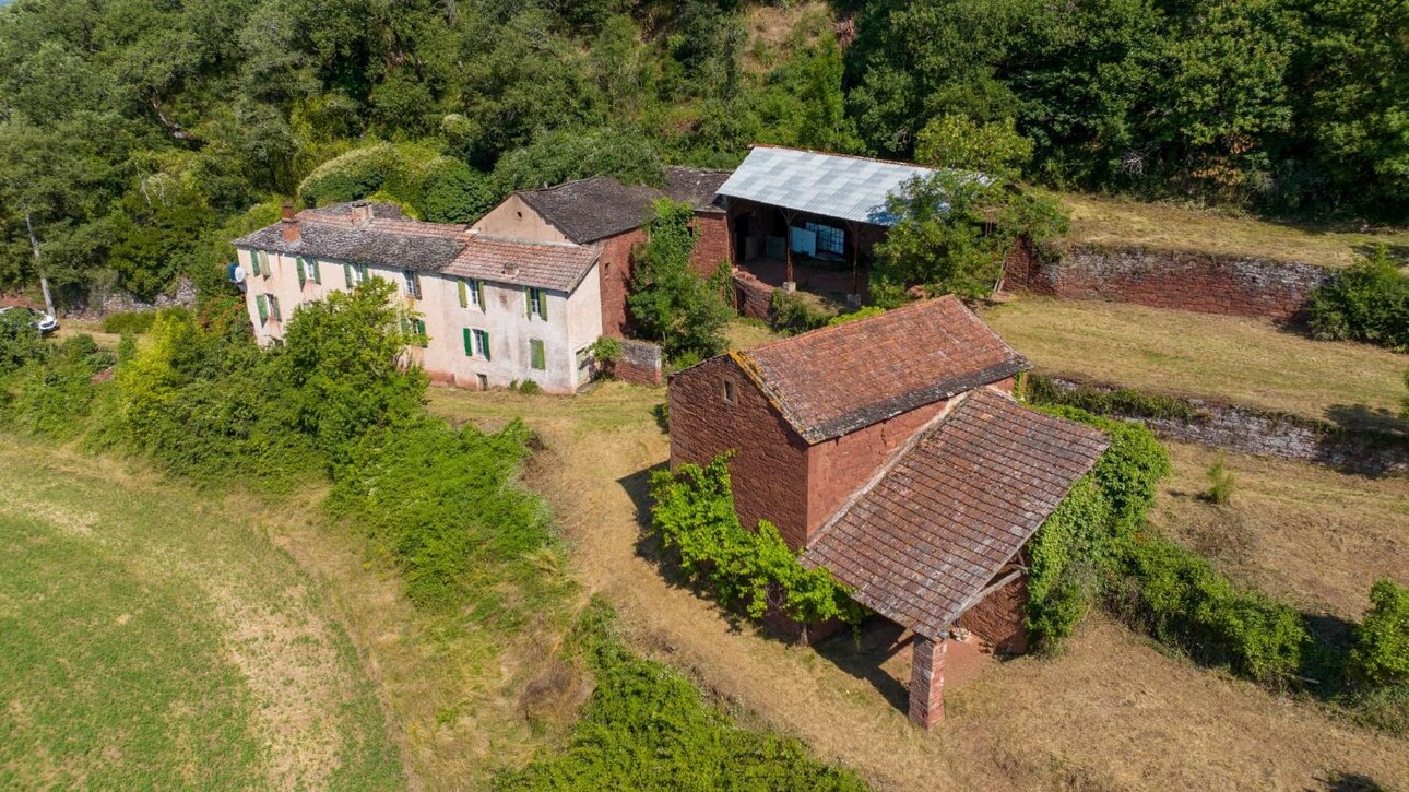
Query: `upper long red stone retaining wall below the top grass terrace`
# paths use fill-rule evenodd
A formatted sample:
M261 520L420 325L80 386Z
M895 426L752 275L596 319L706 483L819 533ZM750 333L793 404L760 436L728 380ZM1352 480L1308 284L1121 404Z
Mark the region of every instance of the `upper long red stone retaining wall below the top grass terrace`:
M1055 261L1014 255L1005 286L1075 300L1289 320L1334 276L1309 264L1193 251L1074 245Z

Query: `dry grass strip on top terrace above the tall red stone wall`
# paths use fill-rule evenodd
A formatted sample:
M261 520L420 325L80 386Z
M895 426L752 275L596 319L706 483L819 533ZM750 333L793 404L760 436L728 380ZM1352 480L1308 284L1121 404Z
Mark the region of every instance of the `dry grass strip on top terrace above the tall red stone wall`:
M1388 245L1409 264L1409 230L1292 225L1168 203L1062 193L1074 242L1143 245L1348 266Z

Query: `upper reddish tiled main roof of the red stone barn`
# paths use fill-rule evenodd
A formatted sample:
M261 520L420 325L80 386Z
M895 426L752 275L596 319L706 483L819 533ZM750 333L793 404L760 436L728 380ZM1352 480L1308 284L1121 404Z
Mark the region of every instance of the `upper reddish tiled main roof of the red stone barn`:
M731 355L807 443L1029 368L952 295Z

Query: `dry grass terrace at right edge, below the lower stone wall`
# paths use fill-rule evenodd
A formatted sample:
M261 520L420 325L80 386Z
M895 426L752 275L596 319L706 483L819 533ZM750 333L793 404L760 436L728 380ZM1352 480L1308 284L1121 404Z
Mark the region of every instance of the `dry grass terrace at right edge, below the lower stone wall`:
M1236 582L1312 613L1358 620L1370 585L1409 585L1409 479L1367 479L1322 465L1171 444L1174 475L1153 520ZM1233 499L1198 497L1223 459Z

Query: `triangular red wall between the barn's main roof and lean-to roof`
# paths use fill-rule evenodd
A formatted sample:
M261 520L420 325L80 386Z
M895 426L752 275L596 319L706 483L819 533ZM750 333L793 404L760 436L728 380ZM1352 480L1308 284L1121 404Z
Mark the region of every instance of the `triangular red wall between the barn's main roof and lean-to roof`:
M926 404L809 448L807 538L947 406L948 400Z

